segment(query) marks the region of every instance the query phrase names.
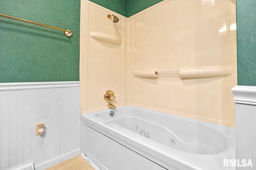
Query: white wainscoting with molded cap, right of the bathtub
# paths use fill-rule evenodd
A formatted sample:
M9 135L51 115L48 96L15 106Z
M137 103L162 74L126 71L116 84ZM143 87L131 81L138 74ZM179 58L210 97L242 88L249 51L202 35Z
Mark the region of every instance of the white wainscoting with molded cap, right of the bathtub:
M256 86L232 88L236 103L236 159L252 160L252 167L237 167L237 170L256 169Z

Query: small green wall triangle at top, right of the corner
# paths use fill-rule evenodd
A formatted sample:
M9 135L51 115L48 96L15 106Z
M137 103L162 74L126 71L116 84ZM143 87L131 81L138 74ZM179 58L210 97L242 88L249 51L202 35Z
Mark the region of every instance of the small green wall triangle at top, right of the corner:
M130 17L162 0L127 0L127 17Z

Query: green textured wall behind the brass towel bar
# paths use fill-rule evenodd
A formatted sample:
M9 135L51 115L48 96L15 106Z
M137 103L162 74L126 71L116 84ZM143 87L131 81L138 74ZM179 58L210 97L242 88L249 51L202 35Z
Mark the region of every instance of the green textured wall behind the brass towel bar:
M80 0L0 0L0 82L79 80Z

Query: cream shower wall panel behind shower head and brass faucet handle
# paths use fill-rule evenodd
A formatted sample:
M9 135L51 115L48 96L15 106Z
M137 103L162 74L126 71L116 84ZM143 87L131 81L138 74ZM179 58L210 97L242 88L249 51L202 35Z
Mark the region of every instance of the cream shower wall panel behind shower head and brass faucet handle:
M114 23L108 14L119 21ZM80 30L81 113L108 109L104 100L107 90L116 96L112 104L126 105L127 18L93 2L81 1Z

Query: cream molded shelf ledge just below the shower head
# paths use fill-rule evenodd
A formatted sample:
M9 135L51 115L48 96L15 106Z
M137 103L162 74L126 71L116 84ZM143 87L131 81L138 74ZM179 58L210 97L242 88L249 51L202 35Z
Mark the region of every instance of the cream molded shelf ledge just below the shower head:
M110 44L114 44L114 45L121 45L122 44L121 39L119 39L118 37L114 37L112 35L99 33L99 32L90 32L90 36L93 39L102 41L104 43L110 43Z

